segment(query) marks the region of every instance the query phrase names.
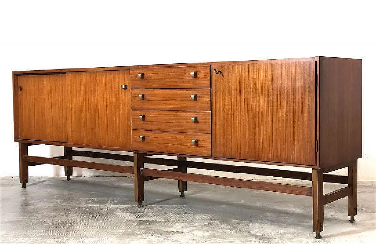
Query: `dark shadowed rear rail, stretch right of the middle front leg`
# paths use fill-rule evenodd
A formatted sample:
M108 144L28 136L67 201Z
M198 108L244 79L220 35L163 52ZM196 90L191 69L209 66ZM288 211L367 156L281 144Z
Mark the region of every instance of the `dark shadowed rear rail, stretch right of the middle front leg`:
M284 170L284 169L267 169L267 168L257 168L257 167L240 166L240 165L224 165L220 163L177 161L174 159L156 159L156 158L150 158L150 157L146 157L144 159L144 162L151 163L151 164L158 164L158 165L170 165L170 166L178 166L178 163L185 163L187 168L208 169L208 170L242 173L242 174L265 175L265 176L290 178L290 179L298 179L298 180L312 180L312 174L310 172L290 171L290 170ZM347 184L347 176L324 174L324 182Z

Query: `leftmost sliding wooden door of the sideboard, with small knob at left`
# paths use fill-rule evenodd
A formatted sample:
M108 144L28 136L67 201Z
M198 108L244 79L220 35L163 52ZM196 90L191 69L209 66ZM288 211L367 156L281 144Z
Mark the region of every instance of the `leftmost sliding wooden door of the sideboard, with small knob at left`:
M64 74L18 75L19 139L67 142Z

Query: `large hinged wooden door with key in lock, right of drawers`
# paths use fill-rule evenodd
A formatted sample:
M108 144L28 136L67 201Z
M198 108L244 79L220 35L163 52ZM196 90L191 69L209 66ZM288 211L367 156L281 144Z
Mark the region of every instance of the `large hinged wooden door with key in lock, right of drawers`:
M315 165L314 61L214 69L214 157Z

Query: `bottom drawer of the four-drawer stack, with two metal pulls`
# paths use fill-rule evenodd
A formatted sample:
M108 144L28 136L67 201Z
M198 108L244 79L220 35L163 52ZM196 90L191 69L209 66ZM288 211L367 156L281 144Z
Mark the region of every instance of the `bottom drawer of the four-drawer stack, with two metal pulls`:
M132 148L140 151L211 156L210 140L210 134L132 130Z

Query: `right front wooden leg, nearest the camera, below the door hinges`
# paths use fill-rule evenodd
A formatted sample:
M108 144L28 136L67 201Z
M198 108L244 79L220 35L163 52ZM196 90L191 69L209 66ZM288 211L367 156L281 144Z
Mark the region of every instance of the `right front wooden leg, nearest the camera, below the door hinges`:
M312 169L312 215L313 232L321 239L324 230L324 173L322 169Z

